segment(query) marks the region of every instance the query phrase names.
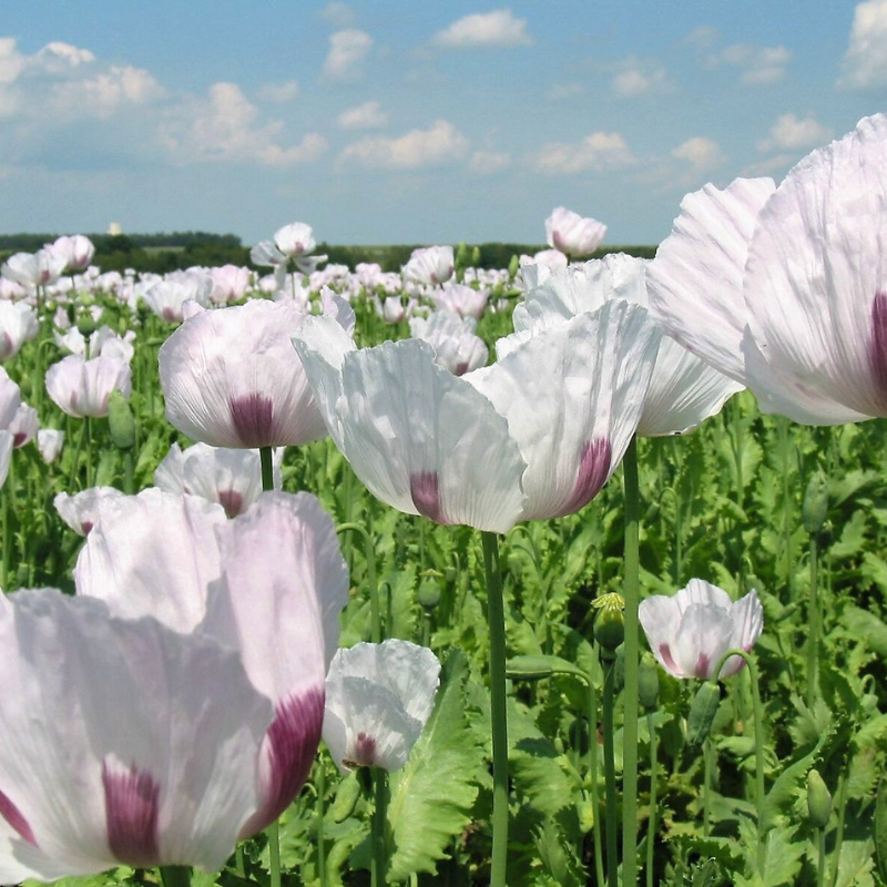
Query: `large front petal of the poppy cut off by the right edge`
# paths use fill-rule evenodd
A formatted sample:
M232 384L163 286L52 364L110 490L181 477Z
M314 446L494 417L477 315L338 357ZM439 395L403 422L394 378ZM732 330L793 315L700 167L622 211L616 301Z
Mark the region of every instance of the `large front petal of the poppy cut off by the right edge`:
M814 151L761 213L743 293L759 364L803 396L789 418L832 425L887 416L878 298L887 292L887 116ZM750 368L751 369L751 368ZM815 402L818 420L814 421ZM762 406L771 407L765 397Z

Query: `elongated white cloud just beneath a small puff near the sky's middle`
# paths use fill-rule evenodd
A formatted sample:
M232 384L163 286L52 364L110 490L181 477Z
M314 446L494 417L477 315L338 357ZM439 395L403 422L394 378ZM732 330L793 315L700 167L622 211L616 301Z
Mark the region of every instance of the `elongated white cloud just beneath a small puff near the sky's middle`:
M449 121L437 120L428 130L410 130L399 139L367 136L339 155L344 163L377 170L421 170L465 159L468 139Z

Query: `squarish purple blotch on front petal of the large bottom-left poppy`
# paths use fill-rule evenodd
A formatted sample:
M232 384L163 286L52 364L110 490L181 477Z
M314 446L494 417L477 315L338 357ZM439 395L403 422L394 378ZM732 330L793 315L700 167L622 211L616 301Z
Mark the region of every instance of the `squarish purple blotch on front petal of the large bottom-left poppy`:
M128 771L102 765L108 845L121 863L146 868L160 863L160 783L133 764Z

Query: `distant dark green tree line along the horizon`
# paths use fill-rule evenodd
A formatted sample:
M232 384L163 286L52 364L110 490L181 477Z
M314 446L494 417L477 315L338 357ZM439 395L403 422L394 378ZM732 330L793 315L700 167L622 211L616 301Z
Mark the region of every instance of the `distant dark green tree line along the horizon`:
M52 243L58 234L0 234L0 262L12 253L33 253ZM133 268L137 272L165 274L194 265L243 265L254 267L249 247L235 234L208 234L202 231L173 232L172 234L88 234L95 244L93 264L102 271ZM347 265L351 271L361 262L377 263L383 271L397 272L407 263L414 249L422 244L395 244L389 246L337 246L320 243L316 253L326 255L330 264ZM477 251L477 266L507 268L512 256L532 255L544 249L544 244L482 243L471 245ZM594 257L606 253L625 252L652 258L655 246L608 246ZM262 271L262 268L258 268Z

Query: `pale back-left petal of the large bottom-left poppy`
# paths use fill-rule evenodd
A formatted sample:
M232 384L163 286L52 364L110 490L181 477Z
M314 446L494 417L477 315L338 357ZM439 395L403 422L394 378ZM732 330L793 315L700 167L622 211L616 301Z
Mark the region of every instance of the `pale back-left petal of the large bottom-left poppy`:
M101 598L116 615L193 630L221 573L213 530L225 522L224 509L150 488L101 500L98 516L74 567L78 594Z

